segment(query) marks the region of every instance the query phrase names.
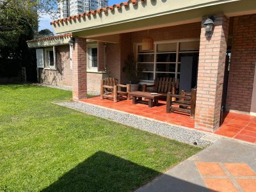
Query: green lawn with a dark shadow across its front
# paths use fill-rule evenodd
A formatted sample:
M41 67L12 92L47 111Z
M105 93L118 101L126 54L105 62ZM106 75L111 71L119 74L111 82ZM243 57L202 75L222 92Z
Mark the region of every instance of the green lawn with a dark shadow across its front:
M201 150L52 104L71 97L0 85L0 191L132 191Z

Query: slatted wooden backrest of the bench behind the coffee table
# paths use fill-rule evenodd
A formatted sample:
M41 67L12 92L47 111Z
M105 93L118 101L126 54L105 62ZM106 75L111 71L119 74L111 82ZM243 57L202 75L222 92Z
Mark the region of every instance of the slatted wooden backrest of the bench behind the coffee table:
M154 81L154 92L167 93L172 91L172 86L175 84L175 88L179 88L179 79L175 81L174 77L160 77Z

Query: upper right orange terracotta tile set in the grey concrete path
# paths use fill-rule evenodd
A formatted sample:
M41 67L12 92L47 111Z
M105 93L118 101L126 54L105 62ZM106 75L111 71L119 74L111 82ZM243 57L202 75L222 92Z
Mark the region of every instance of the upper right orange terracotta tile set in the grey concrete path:
M223 163L225 168L234 176L256 176L253 170L245 163Z

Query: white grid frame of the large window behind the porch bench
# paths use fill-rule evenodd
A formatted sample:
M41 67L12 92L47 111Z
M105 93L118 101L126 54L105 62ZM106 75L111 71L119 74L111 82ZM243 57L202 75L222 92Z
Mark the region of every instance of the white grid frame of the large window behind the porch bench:
M180 74L180 72L178 72L178 67L180 65L180 62L179 62L179 54L180 53L189 53L189 52L199 52L199 51L179 51L179 45L180 43L182 42L196 42L196 41L200 41L200 38L189 38L189 39L182 39L182 40L164 40L164 41L156 41L154 42L154 51L152 52L146 52L146 53L139 53L139 45L142 45L141 43L135 43L135 46L136 46L136 66L138 68L138 64L147 64L147 63L152 63L154 64L154 70L153 71L142 71L142 72L152 72L154 74L154 77L153 79L156 79L156 74L159 73L159 74L163 74L163 73L167 73L167 74L175 74L175 79L177 79L178 77L178 74ZM176 53L176 60L175 62L161 62L161 63L175 63L175 72L157 72L156 71L156 65L157 65L157 61L156 61L156 58L157 58L157 44L171 44L171 43L176 43L177 44L177 47L176 47L176 51L173 51L173 53ZM154 61L152 62L138 62L138 55L139 54L154 54ZM145 80L145 79L140 79L140 82L141 83L154 83L154 81L151 81L151 80Z

